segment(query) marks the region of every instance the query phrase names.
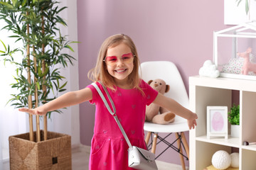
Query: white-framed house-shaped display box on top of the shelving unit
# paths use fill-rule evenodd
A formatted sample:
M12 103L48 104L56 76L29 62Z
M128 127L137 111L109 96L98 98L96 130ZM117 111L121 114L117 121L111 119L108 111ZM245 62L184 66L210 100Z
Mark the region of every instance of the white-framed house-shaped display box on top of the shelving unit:
M213 62L220 77L256 80L256 21L214 32Z

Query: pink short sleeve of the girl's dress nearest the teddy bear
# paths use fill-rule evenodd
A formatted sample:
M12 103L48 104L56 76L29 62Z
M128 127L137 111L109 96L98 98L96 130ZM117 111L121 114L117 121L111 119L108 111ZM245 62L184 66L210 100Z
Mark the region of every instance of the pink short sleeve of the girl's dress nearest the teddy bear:
M141 81L141 88L145 94L146 105L149 106L156 99L159 92L149 86L144 80Z

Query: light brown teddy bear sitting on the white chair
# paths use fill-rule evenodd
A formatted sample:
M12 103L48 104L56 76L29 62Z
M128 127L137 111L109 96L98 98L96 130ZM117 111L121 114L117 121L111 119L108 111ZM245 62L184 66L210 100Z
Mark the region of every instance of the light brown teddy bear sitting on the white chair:
M149 80L148 84L159 91L160 94L167 93L170 89L170 86L162 79ZM146 106L146 118L147 122L152 122L156 124L167 124L174 122L175 114L168 111L166 108L162 108L159 105L151 103L149 106Z

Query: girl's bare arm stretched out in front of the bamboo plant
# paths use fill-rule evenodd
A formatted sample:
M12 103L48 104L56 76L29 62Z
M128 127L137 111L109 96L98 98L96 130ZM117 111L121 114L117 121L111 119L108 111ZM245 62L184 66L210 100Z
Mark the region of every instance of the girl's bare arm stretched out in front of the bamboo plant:
M18 111L31 113L33 115L46 115L48 111L73 106L84 101L90 101L91 99L92 91L89 88L85 88L79 91L70 91L38 108L19 108Z

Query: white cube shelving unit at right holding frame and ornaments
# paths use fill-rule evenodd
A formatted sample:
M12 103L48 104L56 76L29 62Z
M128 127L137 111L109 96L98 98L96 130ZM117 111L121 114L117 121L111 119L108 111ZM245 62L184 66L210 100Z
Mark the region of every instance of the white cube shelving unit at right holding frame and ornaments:
M208 139L207 106L232 106L232 91L240 91L240 137L215 137ZM218 150L239 150L239 169L256 169L256 145L244 146L243 141L256 142L256 81L230 78L189 77L191 111L198 114L198 125L190 130L190 170L202 170L211 165ZM230 126L230 125L229 125ZM230 134L230 127L228 128Z

